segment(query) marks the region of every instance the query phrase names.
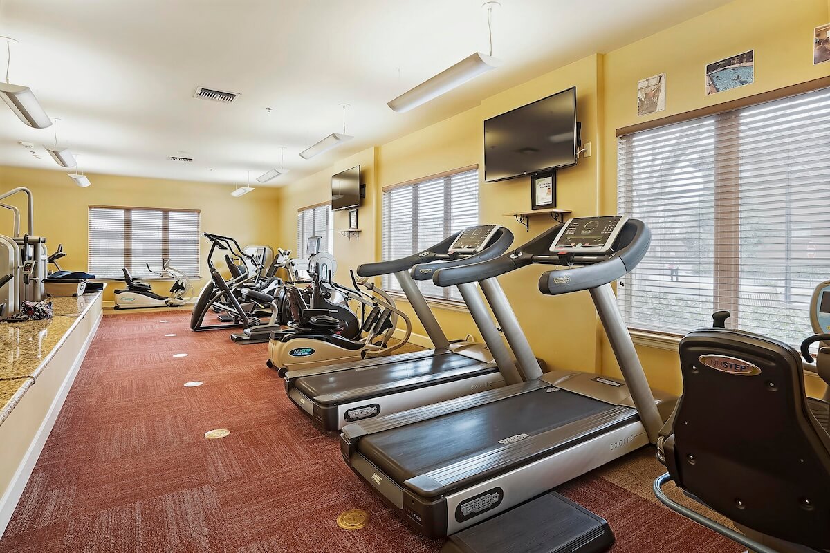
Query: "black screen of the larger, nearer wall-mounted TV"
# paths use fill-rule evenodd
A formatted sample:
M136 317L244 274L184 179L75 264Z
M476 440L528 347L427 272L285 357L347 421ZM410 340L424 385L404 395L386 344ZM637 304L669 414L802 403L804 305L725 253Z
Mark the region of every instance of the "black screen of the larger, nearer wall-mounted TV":
M484 122L484 180L576 163L576 87Z

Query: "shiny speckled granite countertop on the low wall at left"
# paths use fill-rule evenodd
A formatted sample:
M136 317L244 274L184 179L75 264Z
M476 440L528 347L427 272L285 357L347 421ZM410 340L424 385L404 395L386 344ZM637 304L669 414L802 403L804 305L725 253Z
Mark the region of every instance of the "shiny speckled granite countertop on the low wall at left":
M51 319L0 323L0 422L32 386L46 361L100 293L52 298Z

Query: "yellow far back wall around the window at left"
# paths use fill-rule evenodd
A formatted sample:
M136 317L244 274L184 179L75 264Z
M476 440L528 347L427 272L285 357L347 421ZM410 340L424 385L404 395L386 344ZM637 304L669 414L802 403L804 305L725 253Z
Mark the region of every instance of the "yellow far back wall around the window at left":
M46 236L50 252L63 244L66 257L58 262L63 269L85 271L87 268L87 206L90 205L198 209L202 211L203 232L233 236L242 246L264 244L276 247L280 221L276 188L258 187L254 192L234 198L230 196L232 187L227 185L91 173L89 177L92 186L80 188L62 171L0 167L0 192L18 186L32 190L35 234ZM22 230L27 224L25 197L15 195L10 202L20 207L24 214ZM11 211L0 212L0 229L3 234L11 233ZM203 278L193 283L197 292L209 278L207 249L207 241L201 240ZM223 266L221 256L217 257ZM108 286L105 300L112 300L112 290L118 287L117 283ZM169 283L155 283L154 289L167 293Z

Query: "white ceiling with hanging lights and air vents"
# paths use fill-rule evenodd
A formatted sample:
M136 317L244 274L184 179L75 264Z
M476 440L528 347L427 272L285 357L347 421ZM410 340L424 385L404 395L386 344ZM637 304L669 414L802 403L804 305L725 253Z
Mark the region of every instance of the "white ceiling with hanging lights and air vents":
M19 41L11 82L32 87L46 112L63 119L59 142L79 154L82 170L244 182L247 170L253 180L278 167L285 146L291 173L269 183L279 186L728 2L501 0L493 18L499 69L407 114L388 109L413 85L487 51L483 1L0 0L0 35ZM0 51L3 71L5 61ZM233 104L193 99L200 85L241 96ZM356 138L300 158L342 131L344 102ZM40 146L52 133L28 128L0 103L0 165L60 170ZM38 144L43 158L20 141ZM168 160L179 152L193 163Z

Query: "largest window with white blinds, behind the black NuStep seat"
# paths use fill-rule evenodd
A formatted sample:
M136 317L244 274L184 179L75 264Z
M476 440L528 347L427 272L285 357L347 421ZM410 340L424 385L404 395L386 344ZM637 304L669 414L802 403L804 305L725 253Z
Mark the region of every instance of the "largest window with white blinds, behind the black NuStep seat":
M830 278L830 89L622 136L619 212L652 246L620 283L629 327L730 327L798 344Z

